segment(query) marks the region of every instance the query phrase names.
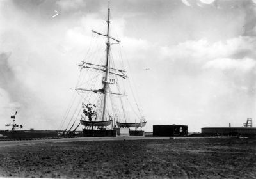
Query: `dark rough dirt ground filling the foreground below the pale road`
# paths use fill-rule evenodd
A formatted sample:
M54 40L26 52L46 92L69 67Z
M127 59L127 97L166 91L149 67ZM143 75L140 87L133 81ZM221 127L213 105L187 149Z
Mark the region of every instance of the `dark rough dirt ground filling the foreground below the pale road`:
M256 139L28 144L1 147L0 159L1 177L256 178Z

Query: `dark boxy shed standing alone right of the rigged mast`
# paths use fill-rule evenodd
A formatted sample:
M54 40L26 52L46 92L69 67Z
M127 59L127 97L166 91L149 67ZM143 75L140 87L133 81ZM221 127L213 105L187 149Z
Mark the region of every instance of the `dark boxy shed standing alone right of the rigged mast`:
M186 136L188 125L153 125L154 136Z

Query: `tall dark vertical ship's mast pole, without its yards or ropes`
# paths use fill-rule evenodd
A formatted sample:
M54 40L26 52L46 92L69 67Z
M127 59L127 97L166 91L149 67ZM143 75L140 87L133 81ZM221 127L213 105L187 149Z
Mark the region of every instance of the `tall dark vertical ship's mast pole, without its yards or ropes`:
M102 121L104 121L105 118L105 113L106 113L106 99L107 99L107 95L108 95L108 58L109 58L109 47L110 47L110 43L109 43L109 2L108 2L108 32L107 32L107 54L106 54L106 72L105 72L105 79L104 79L104 105L103 105L103 114L102 114Z

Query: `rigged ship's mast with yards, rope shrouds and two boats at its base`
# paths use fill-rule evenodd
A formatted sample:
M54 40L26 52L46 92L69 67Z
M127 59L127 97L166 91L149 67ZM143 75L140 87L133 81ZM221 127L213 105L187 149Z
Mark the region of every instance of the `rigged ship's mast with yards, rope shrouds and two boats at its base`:
M78 103L80 106L82 103L82 108L77 107L80 110L73 113L72 117L75 118L74 123L76 123L80 114L81 119L77 127L83 125L87 129L142 128L147 122L143 118L143 113L134 95L127 72L122 69L124 68L124 61L120 49L116 48L119 50L119 54L117 52L115 56L119 56L121 59L116 62L113 58L113 49L115 49L113 46L120 45L121 41L111 36L109 15L110 8L108 8L106 33L92 31L92 38L95 38L97 43L92 44L91 41L89 49L92 52L88 51L86 60L78 64L81 74L76 88L72 89L81 97ZM99 43L102 38L104 38L106 45ZM93 50L105 51L106 54L100 56L100 52L93 52ZM125 83L127 79L129 85ZM133 105L125 92L132 94ZM134 109L134 106L136 109ZM89 117L88 110L91 113ZM70 123L71 121L68 125ZM111 127L109 127L110 125ZM72 127L70 127L70 130Z

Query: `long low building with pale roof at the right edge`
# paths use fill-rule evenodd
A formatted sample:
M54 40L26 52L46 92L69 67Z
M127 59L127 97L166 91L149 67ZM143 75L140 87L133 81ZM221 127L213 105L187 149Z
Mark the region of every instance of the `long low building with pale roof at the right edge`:
M256 127L202 127L201 131L208 135L256 135Z

